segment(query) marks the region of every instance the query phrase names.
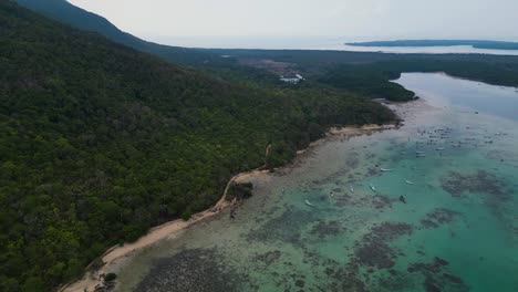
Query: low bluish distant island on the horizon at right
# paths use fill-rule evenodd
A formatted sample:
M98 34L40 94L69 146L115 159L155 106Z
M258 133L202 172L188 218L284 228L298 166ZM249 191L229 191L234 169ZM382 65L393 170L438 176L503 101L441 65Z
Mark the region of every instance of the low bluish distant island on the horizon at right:
M470 45L475 49L518 50L518 42L480 40L400 40L345 43L353 46L454 46Z

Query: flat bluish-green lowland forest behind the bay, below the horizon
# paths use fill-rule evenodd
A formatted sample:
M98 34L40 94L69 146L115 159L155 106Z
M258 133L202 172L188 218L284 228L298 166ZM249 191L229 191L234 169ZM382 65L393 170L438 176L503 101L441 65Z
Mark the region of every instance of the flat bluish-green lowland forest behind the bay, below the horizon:
M518 56L479 54L384 54L300 50L210 50L246 63L272 60L292 64L313 81L373 98L407 101L414 93L390 82L403 72L445 72L495 85L518 86Z

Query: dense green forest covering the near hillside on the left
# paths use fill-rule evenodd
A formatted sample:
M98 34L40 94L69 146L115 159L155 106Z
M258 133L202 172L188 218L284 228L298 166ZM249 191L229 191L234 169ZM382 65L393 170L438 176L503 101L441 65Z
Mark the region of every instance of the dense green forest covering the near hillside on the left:
M211 206L269 144L279 166L330 125L395 118L332 88L177 67L11 1L0 66L0 291L50 291L108 247Z

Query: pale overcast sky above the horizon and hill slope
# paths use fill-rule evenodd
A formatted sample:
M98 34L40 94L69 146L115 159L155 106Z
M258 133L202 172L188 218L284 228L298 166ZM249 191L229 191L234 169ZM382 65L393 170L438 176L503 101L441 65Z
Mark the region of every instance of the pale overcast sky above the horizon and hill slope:
M518 40L518 0L70 0L144 39Z

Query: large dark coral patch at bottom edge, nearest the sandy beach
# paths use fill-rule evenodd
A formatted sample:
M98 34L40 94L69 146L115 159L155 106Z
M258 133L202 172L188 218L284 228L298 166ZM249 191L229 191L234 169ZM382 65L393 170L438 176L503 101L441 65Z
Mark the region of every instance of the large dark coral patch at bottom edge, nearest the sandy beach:
M137 292L232 292L242 291L244 275L221 263L214 250L185 250L159 259L138 284Z

